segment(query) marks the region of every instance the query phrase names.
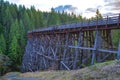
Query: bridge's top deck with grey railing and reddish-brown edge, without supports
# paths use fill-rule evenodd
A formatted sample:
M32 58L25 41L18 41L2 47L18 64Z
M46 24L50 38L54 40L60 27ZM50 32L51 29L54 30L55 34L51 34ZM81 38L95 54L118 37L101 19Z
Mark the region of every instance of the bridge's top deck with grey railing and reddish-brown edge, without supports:
M100 29L118 29L120 25L120 14L114 15L111 17L99 19L99 20L87 20L82 22L75 22L71 24L63 25L54 25L48 28L36 29L29 31L30 33L44 33L51 34L55 33L66 33L66 32L75 32L75 31L86 31L86 30L100 30Z

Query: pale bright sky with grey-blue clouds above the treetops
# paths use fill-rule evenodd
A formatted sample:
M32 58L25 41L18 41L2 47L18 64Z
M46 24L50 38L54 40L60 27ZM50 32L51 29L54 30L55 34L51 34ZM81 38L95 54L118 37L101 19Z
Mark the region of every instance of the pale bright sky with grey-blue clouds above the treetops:
M41 11L50 11L54 8L56 11L65 10L74 12L85 17L95 15L97 9L103 16L120 12L120 0L5 0L17 5L25 5Z

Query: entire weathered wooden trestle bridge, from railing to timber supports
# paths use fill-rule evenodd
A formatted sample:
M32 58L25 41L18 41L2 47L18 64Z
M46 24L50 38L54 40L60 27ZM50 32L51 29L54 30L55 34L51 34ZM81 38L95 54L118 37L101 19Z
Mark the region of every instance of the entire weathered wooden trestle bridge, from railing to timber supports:
M120 29L120 14L30 31L23 70L73 70L120 59L120 43L116 48L112 42L115 29Z

